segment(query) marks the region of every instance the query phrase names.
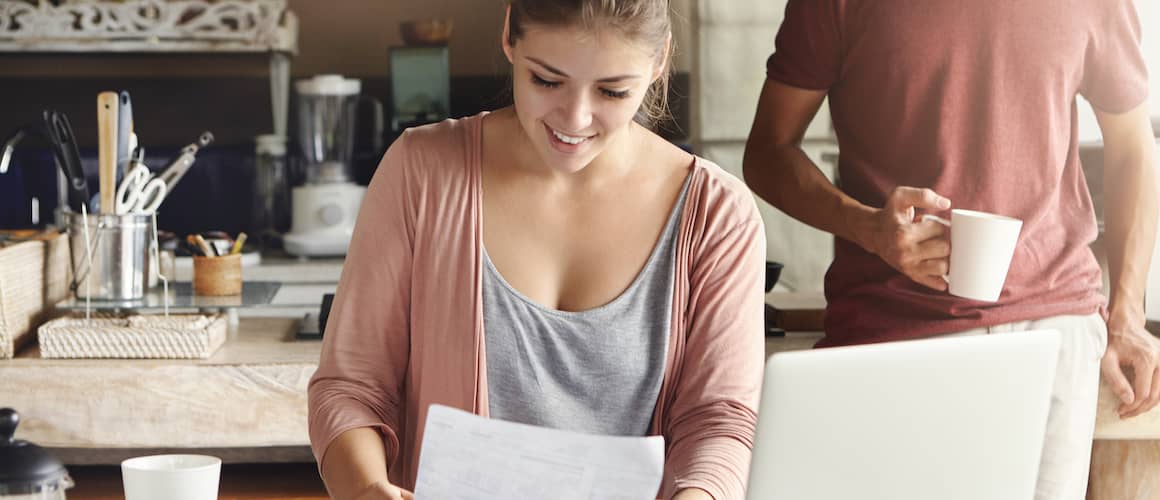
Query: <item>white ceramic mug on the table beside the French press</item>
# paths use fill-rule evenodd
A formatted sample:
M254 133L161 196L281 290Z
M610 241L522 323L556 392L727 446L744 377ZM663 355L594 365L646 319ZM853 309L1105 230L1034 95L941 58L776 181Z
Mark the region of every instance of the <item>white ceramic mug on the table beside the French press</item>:
M208 455L152 455L121 463L125 500L217 500L222 459Z

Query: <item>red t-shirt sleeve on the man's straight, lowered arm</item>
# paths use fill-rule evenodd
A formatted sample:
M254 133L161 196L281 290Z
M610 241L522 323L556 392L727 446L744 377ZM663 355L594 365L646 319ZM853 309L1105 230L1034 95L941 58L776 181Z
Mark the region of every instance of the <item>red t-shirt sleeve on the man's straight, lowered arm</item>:
M1083 55L1080 94L1099 110L1124 113L1148 95L1147 66L1140 50L1140 20L1132 0L1093 2L1102 12L1093 16Z

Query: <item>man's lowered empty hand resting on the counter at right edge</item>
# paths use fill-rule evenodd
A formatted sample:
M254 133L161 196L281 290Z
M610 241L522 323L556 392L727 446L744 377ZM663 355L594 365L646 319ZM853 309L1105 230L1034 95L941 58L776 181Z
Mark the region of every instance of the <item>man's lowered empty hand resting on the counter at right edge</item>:
M1131 383L1124 368L1131 369ZM1143 321L1108 320L1108 352L1100 369L1119 397L1121 419L1145 413L1160 401L1160 340L1144 329Z

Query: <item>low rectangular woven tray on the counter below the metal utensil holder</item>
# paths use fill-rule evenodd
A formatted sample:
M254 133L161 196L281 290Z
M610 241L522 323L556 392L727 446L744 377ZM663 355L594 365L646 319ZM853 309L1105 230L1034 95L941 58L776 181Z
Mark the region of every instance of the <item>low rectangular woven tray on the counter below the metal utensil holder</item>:
M42 357L204 360L226 338L225 316L66 317L37 331Z

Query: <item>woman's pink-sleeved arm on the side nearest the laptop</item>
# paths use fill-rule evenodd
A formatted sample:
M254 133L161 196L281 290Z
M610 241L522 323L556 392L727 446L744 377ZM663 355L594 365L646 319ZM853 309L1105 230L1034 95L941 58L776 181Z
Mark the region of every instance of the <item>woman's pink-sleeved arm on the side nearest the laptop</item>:
M745 497L764 361L766 231L747 190L733 196L741 222L708 220L691 258L686 345L662 423L674 480L666 494Z

